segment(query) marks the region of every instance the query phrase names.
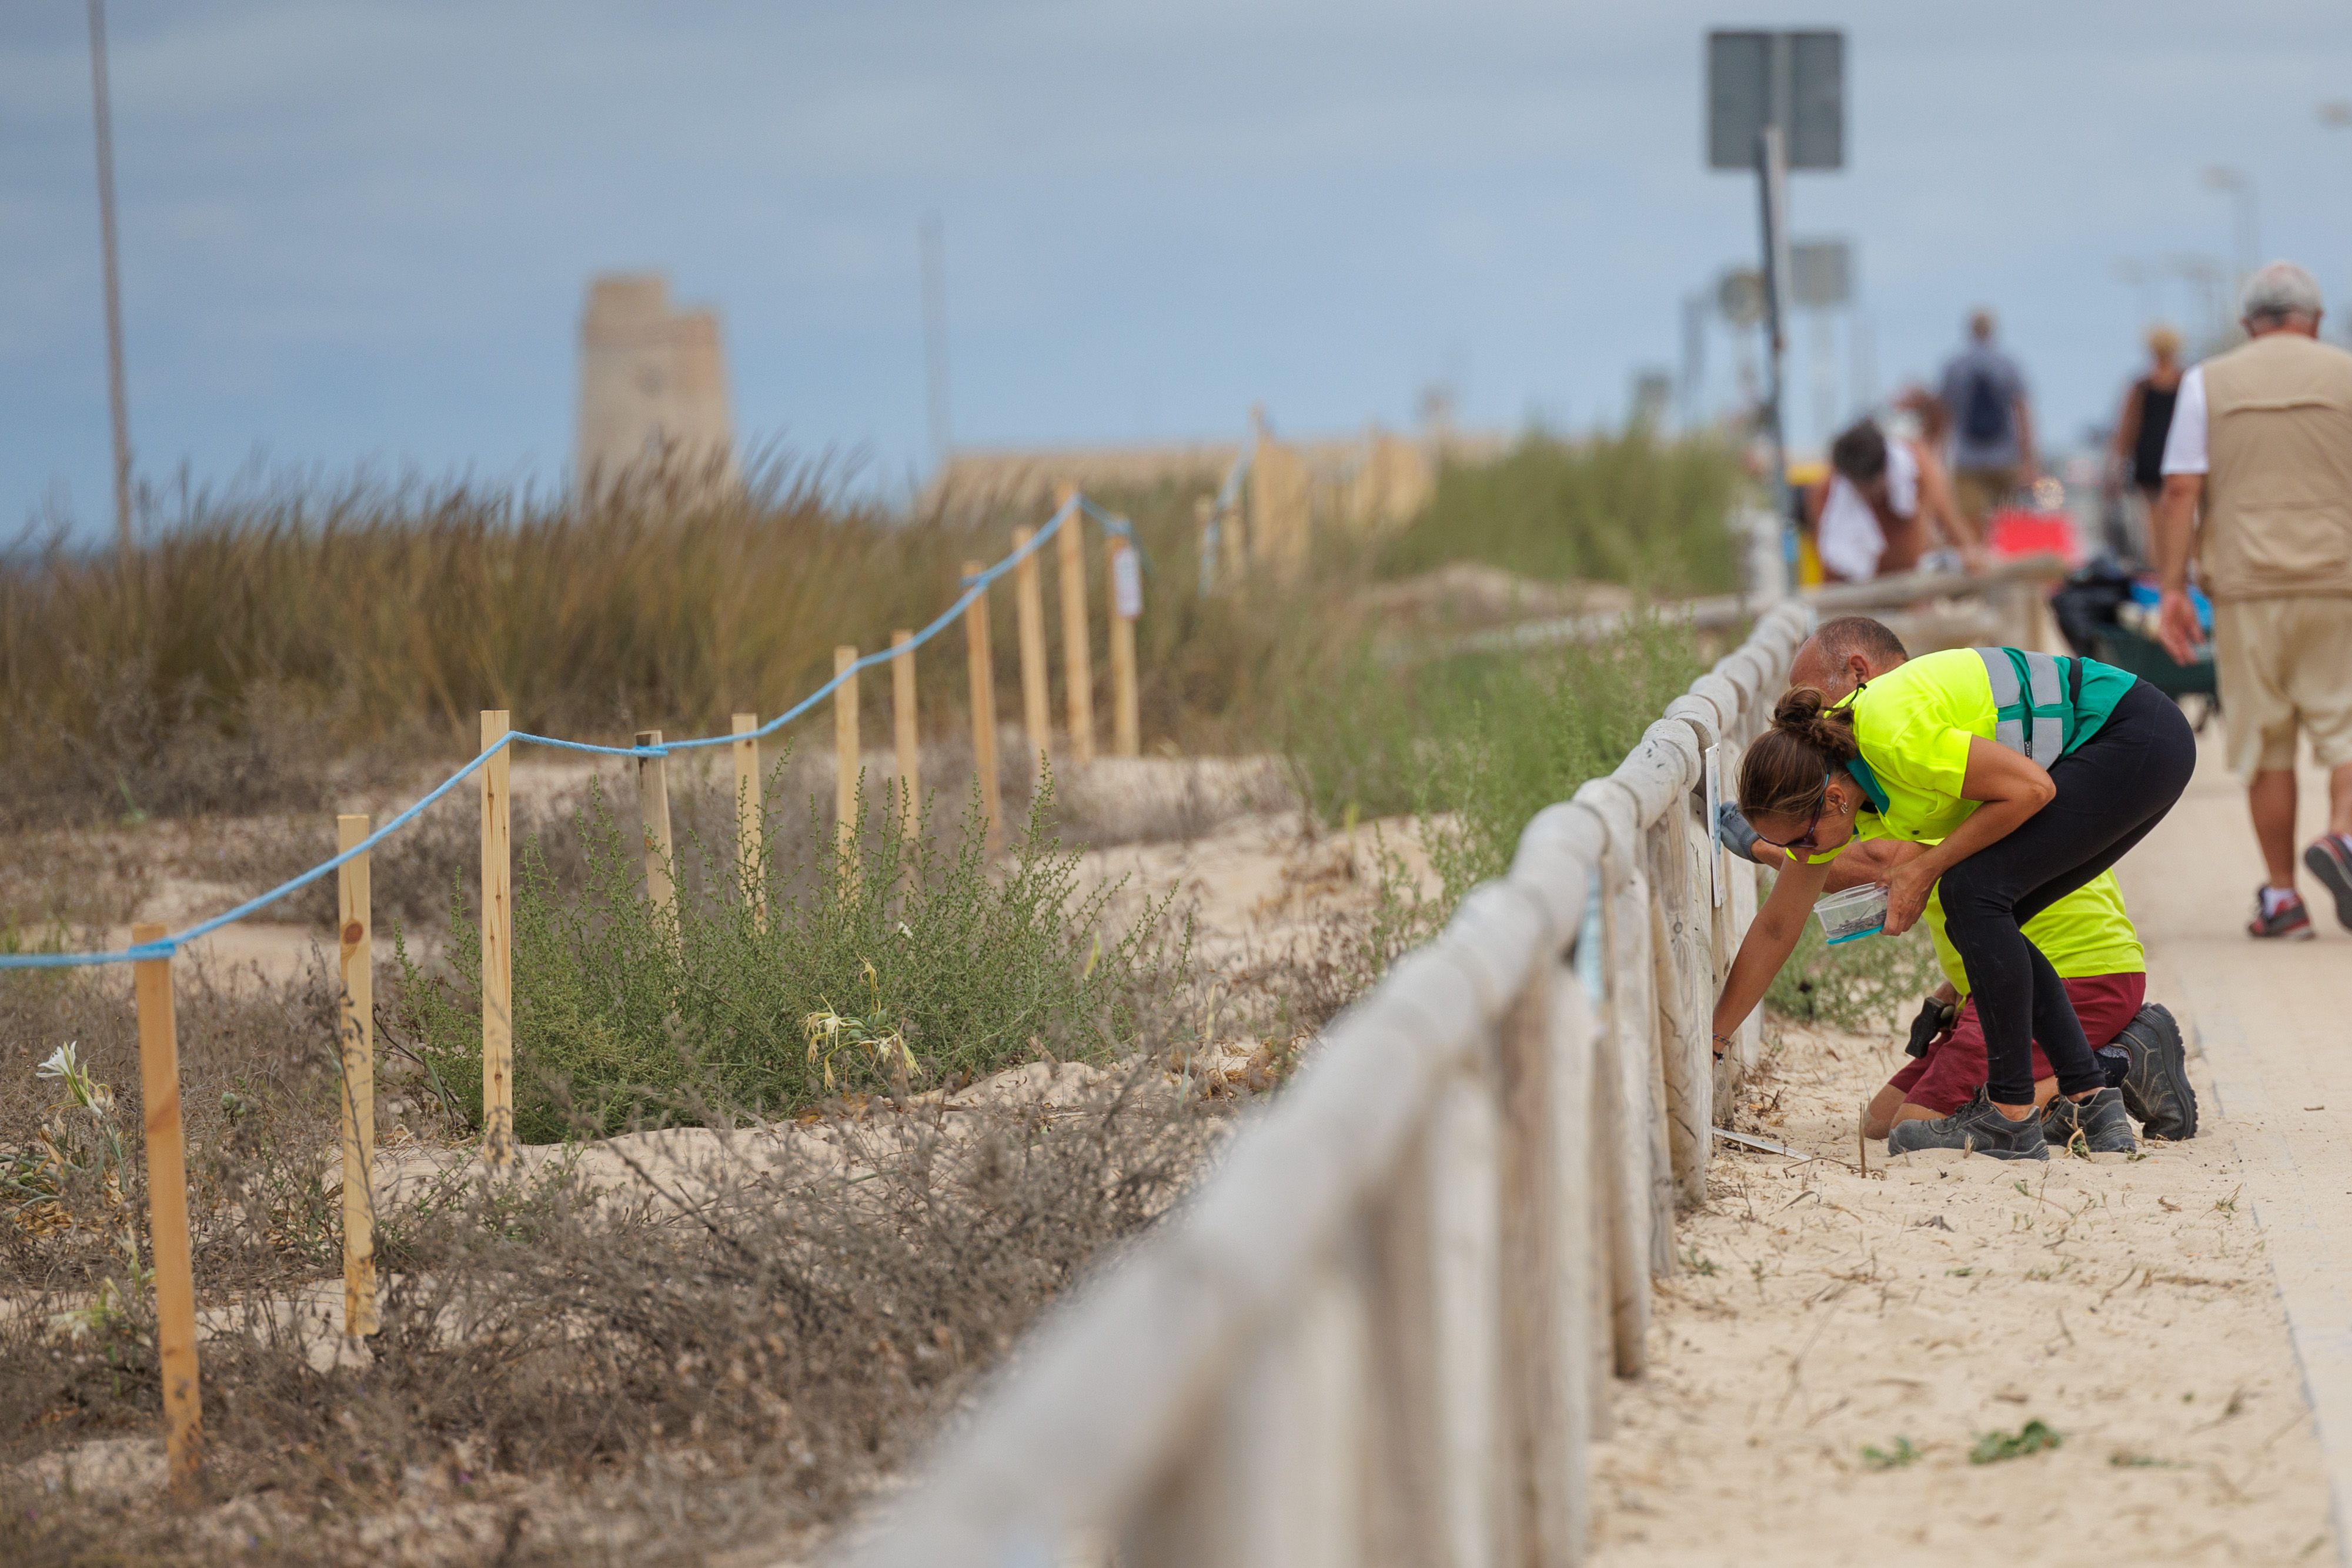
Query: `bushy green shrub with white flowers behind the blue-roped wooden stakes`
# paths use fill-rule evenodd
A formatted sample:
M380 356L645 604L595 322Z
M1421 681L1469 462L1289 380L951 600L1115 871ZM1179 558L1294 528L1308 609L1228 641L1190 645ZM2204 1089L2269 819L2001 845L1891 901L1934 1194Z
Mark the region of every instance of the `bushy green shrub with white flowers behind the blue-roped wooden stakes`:
M929 811L898 827L896 795L835 846L809 804L807 835L767 835L755 877L731 846L689 839L675 912L644 898L642 853L602 795L579 816L586 891L567 896L536 839L515 879L515 1135L553 1143L677 1117L717 1091L790 1114L835 1091L967 1081L1051 1051L1131 1048L1150 997L1183 980L1188 931L1169 903L1105 929L1122 884L1077 891L1077 853L1049 832L1051 780L995 875L978 802L948 853ZM767 917L746 898L767 896ZM400 945L395 1030L449 1107L482 1105L482 936L456 898L449 973Z

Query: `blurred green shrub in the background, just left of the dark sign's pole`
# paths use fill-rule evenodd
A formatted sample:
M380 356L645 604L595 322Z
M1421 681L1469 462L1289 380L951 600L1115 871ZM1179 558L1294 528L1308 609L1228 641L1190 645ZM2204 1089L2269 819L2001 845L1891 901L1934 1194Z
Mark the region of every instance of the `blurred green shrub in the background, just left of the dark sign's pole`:
M1430 508L1381 552L1381 576L1470 559L1531 578L1651 595L1738 588L1726 529L1736 454L1708 440L1529 433L1489 463L1446 463Z

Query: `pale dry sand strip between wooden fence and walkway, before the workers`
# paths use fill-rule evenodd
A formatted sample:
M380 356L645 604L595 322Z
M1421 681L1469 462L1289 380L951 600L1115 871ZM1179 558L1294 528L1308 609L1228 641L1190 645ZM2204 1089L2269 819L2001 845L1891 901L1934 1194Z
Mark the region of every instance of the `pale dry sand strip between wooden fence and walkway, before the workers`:
M2143 1159L1872 1145L1889 1041L1780 1027L1616 1385L1595 1561L2333 1561L2328 1490L2246 1159L2211 1117ZM2056 1450L1973 1465L2039 1420ZM1872 1465L1867 1448L1917 1460Z

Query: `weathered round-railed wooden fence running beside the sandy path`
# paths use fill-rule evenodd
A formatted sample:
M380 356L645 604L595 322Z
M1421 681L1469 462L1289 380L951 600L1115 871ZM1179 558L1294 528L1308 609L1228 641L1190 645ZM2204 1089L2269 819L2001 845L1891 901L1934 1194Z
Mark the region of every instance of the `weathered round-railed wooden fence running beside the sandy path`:
M1757 1053L1748 1027L1712 1060L1757 889L1708 802L1811 623L1764 614L1536 816L837 1561L1578 1561L1611 1373L1644 1371L1715 1095Z

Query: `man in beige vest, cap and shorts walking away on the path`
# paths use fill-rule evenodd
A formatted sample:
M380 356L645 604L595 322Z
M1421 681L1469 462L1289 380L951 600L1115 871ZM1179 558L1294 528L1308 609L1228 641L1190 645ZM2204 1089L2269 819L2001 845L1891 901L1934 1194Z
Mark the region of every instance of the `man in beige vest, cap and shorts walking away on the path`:
M2154 517L2159 630L2180 663L2199 642L2192 534L2213 599L2230 766L2267 872L2249 931L2270 938L2312 933L2296 893L2298 729L2328 769L2328 832L2303 863L2352 929L2352 355L2319 341L2319 308L2293 261L2246 280L2249 341L2180 378Z

